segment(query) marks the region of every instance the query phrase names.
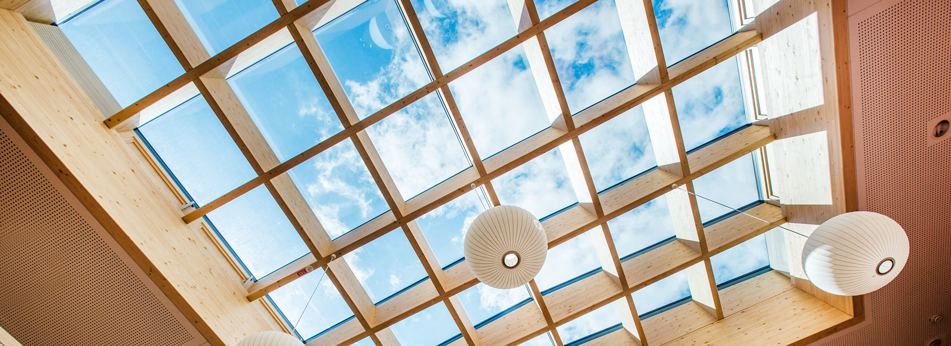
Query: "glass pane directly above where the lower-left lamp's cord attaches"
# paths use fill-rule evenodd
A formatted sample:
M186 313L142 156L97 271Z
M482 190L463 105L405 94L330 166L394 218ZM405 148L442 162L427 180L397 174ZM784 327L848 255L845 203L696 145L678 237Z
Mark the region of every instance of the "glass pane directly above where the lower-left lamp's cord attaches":
M289 174L331 238L389 209L349 138Z

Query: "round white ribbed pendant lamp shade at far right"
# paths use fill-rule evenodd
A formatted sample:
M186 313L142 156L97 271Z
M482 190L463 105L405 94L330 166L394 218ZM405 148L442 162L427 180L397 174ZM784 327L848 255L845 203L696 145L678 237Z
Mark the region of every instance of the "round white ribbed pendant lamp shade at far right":
M805 275L816 287L840 296L882 288L908 260L908 235L895 220L871 211L833 217L803 247Z

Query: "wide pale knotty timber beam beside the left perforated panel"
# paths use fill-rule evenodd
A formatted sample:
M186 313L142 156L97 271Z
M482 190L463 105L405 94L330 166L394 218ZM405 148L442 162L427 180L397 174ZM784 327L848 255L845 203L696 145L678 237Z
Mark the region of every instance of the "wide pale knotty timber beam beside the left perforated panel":
M26 19L6 9L0 76L0 113L203 337L225 345L281 329L261 304L235 299L244 295L240 276L204 234L181 222L165 194L153 192L163 183L141 173L149 168L102 125L102 113Z

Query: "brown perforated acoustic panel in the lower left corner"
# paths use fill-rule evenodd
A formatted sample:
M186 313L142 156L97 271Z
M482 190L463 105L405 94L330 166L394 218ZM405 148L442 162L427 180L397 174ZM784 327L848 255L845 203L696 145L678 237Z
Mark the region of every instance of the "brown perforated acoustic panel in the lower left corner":
M24 345L201 337L0 119L0 326Z

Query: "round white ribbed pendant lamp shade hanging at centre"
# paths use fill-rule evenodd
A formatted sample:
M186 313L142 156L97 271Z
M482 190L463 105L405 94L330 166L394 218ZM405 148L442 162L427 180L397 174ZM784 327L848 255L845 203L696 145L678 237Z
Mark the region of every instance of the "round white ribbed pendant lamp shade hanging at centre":
M531 212L514 206L483 211L466 231L466 264L480 282L514 288L532 281L548 253L545 230Z

